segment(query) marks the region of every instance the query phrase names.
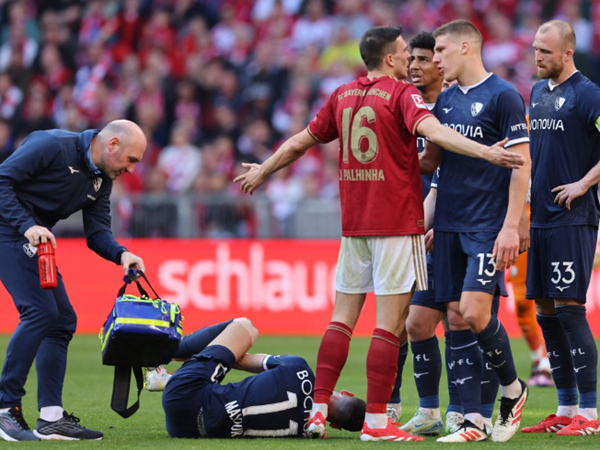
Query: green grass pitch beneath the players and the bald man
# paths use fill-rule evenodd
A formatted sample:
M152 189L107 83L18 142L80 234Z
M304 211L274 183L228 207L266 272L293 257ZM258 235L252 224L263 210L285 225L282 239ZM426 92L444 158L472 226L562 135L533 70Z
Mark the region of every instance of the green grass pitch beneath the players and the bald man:
M292 353L303 356L314 367L317 348L320 340L307 337L277 337L261 336L256 342L253 351L257 353ZM0 336L0 354L5 355L8 336ZM357 396L365 398L365 356L369 345L368 339L356 338L352 342L350 356L344 373L338 383L339 389L354 392ZM521 377L529 375L529 352L523 340L513 340L513 352L517 362L517 369ZM177 367L176 364L168 366L169 370ZM298 439L211 439L211 440L180 440L170 439L164 427L164 416L160 404L160 394L143 392L140 410L130 419L122 419L114 413L109 406L112 390L112 367L105 367L100 362L98 338L95 336L76 335L69 351L69 366L65 382L64 403L69 412L81 418L82 424L104 432L104 440L99 442L21 442L16 447L29 448L41 446L55 447L68 446L78 448L105 448L105 449L316 449L339 448L353 449L372 446L410 446L422 449L440 448L444 444L435 442L435 438L427 438L425 442L416 443L368 443L359 440L358 433L350 433L328 429L329 439L325 441L307 441ZM412 364L408 358L404 369L404 386L402 388L403 418L406 422L414 413L417 406L417 393L412 377ZM227 376L228 381L237 381L245 375L233 372ZM445 393L445 380L442 380L441 405L447 404L448 396ZM36 376L35 371L29 377L27 392L24 399L25 418L30 426L35 425L37 419L36 404ZM556 394L554 389L533 388L523 413L523 424L532 425L554 412L556 408ZM497 412L497 408L496 408ZM8 445L8 443L5 443ZM2 445L2 444L0 444ZM452 445L452 444L445 444ZM457 444L453 444L457 445ZM559 437L550 434L524 435L518 433L506 444L492 442L462 444L467 446L480 446L486 448L522 448L533 447L550 449L577 446L577 448L598 448L600 435L583 437Z

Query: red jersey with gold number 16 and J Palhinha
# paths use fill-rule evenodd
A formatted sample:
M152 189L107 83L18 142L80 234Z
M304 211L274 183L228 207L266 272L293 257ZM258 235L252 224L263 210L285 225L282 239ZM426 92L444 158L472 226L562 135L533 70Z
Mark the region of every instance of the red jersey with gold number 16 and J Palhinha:
M412 84L363 77L337 88L310 122L316 140L340 139L343 236L423 234L415 134L429 116Z

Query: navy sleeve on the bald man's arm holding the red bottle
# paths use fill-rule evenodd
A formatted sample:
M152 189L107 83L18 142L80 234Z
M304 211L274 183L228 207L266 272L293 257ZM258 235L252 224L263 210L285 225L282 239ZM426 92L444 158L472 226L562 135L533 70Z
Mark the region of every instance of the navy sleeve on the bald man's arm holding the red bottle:
M37 224L23 208L15 191L20 184L44 173L60 150L53 136L37 131L27 136L23 144L0 164L0 216L21 234Z

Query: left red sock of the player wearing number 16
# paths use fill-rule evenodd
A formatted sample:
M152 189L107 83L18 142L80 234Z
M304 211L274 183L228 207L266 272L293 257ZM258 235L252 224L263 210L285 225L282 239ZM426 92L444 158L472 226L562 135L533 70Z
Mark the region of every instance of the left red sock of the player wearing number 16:
M350 339L352 339L352 330L341 322L331 322L325 330L317 355L315 403L329 403L335 384L348 359Z

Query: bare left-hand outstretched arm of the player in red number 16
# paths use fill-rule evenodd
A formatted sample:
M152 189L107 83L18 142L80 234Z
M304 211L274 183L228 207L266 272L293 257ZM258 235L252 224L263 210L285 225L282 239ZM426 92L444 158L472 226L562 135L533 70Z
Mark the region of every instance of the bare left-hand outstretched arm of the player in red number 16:
M265 182L269 175L289 166L304 155L309 148L318 144L318 142L311 136L307 129L304 129L285 141L264 163L242 163L242 166L247 168L248 172L240 175L233 182L240 183L240 190L252 195Z

